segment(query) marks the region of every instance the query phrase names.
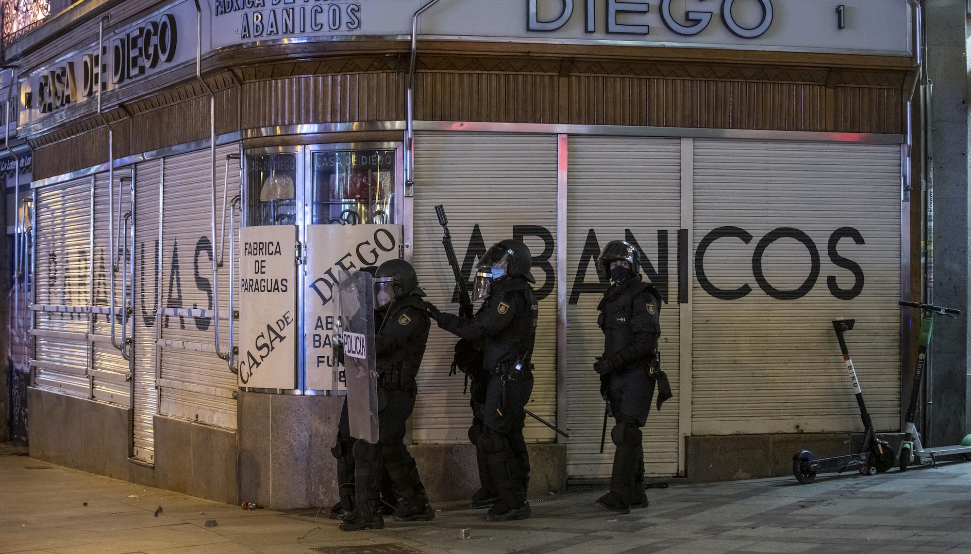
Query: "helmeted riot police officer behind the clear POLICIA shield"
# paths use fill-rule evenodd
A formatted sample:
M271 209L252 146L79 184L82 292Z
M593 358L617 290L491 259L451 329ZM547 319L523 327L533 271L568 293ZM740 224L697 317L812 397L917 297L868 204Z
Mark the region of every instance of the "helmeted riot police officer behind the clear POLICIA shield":
M415 408L418 391L415 378L430 327L421 300L424 292L418 286L418 276L412 264L403 260L382 263L375 273L374 287L379 439L374 445L361 440L353 443L354 509L344 516L342 531L385 527L381 515L385 471L394 491L401 497L394 511L395 521L435 518L415 459L404 444L405 422ZM346 417L345 403L341 422L345 430ZM338 458L339 466L341 459ZM342 483L349 473L346 466L347 461L344 476L339 467L338 477ZM342 494L342 500L346 495L347 492Z

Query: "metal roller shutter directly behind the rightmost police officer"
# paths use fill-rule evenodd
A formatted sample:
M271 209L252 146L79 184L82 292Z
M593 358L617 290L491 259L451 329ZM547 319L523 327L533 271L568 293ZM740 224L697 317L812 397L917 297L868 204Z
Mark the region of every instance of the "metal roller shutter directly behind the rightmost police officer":
M661 366L674 398L652 411L644 430L649 475L678 473L680 308L678 230L681 228L681 139L570 137L567 172L567 267L569 321L566 417L569 477L606 477L614 445L608 423L600 451L604 401L593 361L603 354L597 303L596 258L611 240L635 240L650 262L642 268L666 296L661 307Z

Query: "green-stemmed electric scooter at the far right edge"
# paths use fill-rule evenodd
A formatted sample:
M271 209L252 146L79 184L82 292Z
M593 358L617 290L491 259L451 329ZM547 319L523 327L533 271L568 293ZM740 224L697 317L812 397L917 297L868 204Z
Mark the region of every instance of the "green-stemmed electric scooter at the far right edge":
M904 419L904 440L900 443L900 471L907 471L908 465L937 465L939 458L944 456L962 455L964 459L971 460L971 446L936 446L925 448L921 444L921 433L917 431L917 406L921 398L921 385L923 384L924 362L927 358L927 346L930 344L930 336L933 331L934 316L948 316L957 319L955 316L961 315L960 310L934 306L931 304L921 304L920 302L899 302L901 306L909 306L921 309L921 339L918 343L917 351L917 370L914 372L914 385L911 387L911 403L907 409L907 417ZM916 463L915 463L916 462Z

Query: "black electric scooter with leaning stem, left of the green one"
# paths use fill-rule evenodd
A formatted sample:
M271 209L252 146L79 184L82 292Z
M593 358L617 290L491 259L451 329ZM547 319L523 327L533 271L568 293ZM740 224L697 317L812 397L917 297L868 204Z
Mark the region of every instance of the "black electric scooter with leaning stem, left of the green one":
M866 404L863 402L863 391L856 380L856 370L853 366L853 359L847 350L846 340L843 334L853 329L855 320L835 320L833 329L836 331L836 339L840 342L840 350L843 352L843 359L846 360L847 369L850 371L850 381L856 391L856 404L859 405L859 416L863 420L863 428L866 435L863 437L863 447L859 452L833 456L831 458L817 459L816 455L809 450L801 450L792 456L792 475L802 484L809 484L816 479L816 474L841 474L846 470L856 468L860 475L875 476L878 472L886 472L893 466L894 454L886 441L877 438L877 433L873 429L873 421L866 412Z

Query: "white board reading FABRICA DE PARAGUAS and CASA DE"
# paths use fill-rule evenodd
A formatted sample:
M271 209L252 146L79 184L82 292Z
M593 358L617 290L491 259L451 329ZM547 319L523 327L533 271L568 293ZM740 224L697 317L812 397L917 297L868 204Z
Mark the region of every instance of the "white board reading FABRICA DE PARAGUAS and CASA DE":
M296 233L240 230L240 386L296 388Z

